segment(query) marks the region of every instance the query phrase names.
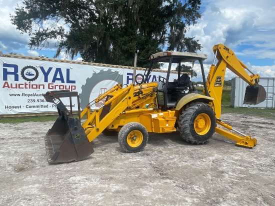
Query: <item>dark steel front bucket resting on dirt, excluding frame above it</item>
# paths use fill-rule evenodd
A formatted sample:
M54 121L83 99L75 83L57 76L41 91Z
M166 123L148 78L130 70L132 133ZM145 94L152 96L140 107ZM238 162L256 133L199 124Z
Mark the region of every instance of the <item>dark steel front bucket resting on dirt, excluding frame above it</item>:
M78 119L59 116L45 137L49 163L78 161L94 152Z

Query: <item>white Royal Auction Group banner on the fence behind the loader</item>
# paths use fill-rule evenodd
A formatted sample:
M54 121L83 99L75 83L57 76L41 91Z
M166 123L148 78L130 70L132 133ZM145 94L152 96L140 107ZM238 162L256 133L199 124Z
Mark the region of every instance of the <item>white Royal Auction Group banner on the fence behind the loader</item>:
M42 96L51 90L77 91L83 109L116 83L132 83L132 75L132 69L0 56L0 114L56 112L55 104L46 102ZM148 82L159 81L159 76L166 77L166 73L151 72ZM169 81L176 78L177 74L171 73ZM69 98L61 100L69 107ZM72 108L77 110L75 97Z

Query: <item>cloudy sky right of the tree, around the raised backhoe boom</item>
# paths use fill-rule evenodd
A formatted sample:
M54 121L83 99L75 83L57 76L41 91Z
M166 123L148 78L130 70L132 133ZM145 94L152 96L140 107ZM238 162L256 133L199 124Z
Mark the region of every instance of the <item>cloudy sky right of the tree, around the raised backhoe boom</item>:
M199 53L205 53L205 73L213 61L212 47L223 43L231 48L237 57L249 64L250 59L274 59L275 62L275 3L273 0L204 0L202 18L190 27L187 35L195 36L203 46ZM270 62L270 61L268 61ZM207 65L208 64L208 65ZM250 64L249 64L250 65ZM252 65L255 73L262 77L274 76L275 65ZM264 69L263 69L264 68ZM194 67L201 79L200 68ZM226 69L225 79L235 74Z

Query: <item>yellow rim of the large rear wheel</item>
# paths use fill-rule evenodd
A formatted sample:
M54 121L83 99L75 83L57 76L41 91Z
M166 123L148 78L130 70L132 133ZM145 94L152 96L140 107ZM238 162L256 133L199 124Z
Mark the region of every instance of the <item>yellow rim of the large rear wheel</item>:
M209 131L210 126L211 120L208 114L201 113L197 115L194 122L194 128L196 133L198 133L199 135L204 135Z

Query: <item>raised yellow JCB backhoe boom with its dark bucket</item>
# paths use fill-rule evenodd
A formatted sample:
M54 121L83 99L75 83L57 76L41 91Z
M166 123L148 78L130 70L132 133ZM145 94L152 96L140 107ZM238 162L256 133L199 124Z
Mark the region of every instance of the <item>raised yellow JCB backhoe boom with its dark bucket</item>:
M215 53L217 63L214 64L214 58L207 76L206 89L209 96L215 98L213 100L213 107L217 118L219 118L221 114L221 93L226 67L248 83L243 103L258 104L265 99L266 92L264 88L258 84L260 76L252 73L247 66L235 56L230 48L223 44L217 44L213 46L213 52ZM251 74L249 75L245 69Z

